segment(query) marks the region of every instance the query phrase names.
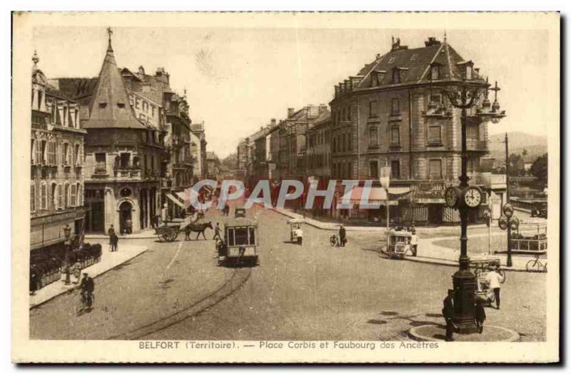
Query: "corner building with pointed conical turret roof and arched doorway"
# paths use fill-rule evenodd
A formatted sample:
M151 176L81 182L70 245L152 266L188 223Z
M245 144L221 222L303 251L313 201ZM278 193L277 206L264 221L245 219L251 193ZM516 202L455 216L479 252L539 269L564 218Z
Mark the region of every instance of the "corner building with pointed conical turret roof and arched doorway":
M134 106L158 104L158 100L147 101L134 93L131 97ZM151 116L136 117L117 68L111 36L89 101L89 118L83 123L87 130L87 227L101 232L113 225L122 233L150 227L161 209L165 133L152 123L157 121L152 109Z

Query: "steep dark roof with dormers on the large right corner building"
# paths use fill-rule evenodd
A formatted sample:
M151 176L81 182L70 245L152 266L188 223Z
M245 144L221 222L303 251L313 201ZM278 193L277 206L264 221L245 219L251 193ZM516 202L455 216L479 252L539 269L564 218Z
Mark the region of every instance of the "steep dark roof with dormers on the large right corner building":
M463 76L461 64L465 62L446 40L422 48L394 49L358 71L357 75L363 79L356 90L371 88L372 71L384 73L379 75L378 86L398 86L393 84L395 68L400 69L400 85L430 83L430 65L433 63L441 65L438 81L460 81ZM473 79L482 80L476 71L473 71Z

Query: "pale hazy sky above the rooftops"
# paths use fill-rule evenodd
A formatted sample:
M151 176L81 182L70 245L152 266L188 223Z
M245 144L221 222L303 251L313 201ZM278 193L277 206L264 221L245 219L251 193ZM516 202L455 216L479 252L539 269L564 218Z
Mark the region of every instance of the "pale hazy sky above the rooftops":
M545 135L548 123L558 121L547 95L546 31L449 29L447 35L463 59L502 89L507 117L490 124L490 133ZM193 123L204 121L208 151L223 158L240 138L285 118L287 108L329 103L335 84L390 50L391 36L417 48L428 36L443 40L444 30L113 27L113 50L119 67L142 65L147 74L164 67L171 87L187 90ZM104 27L36 27L33 40L48 78L97 76L107 47Z

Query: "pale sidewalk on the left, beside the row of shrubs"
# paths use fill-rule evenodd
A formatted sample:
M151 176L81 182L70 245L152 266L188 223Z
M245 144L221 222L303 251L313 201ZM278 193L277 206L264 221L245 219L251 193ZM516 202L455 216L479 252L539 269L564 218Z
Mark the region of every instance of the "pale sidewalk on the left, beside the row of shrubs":
M126 261L135 258L141 253L148 250L148 248L144 246L133 246L133 245L126 245L126 244L119 244L119 250L117 252L109 252L108 248L105 248L105 245L102 243L103 246L103 253L101 254L101 261L95 263L88 268L84 268L82 273L89 273L91 278L96 278L96 276L101 276L101 274L110 271L112 268L121 265L121 263L125 263ZM39 289L35 295L30 296L30 309L35 308L36 306L45 303L52 298L55 298L62 293L71 292L77 285L73 283L75 280L74 276L71 276L71 285L64 285L65 275L62 274L61 281L56 281L46 287Z

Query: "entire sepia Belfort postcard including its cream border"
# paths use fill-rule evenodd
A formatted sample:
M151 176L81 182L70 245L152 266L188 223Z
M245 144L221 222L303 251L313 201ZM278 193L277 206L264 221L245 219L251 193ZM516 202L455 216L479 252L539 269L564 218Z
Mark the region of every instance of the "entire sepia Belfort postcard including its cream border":
M559 360L559 14L12 27L16 362Z

